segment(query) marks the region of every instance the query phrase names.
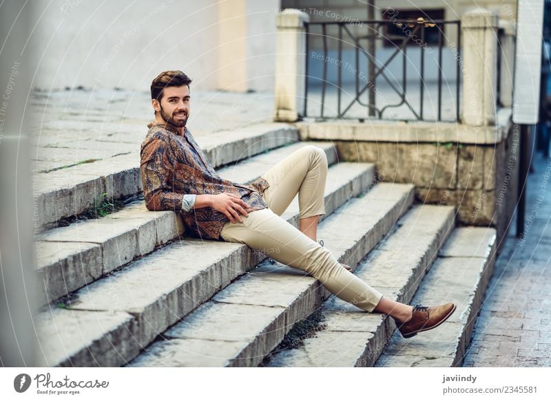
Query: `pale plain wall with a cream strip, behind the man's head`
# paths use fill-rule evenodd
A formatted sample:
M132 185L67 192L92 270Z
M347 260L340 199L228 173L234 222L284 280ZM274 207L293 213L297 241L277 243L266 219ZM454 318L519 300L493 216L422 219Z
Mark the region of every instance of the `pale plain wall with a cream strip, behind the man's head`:
M273 91L279 0L32 3L39 89L147 91L181 69L195 90Z

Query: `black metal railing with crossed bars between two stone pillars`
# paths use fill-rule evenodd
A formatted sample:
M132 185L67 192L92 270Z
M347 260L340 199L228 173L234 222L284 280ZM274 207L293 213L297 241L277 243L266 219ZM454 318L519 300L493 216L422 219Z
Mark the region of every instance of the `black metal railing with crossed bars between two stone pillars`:
M390 32L390 27L394 27L394 32ZM396 27L400 28L404 34L395 34ZM455 32L450 34L455 33L457 44L452 43L448 38L450 34L446 36L446 32L452 30L448 27L455 28ZM459 121L460 21L424 19L417 19L417 21L356 21L354 23L324 21L305 23L305 29L306 74L303 111L305 117L358 118L360 121L366 118ZM431 31L428 35L426 31L429 29L436 31ZM354 30L356 32L353 32ZM359 30L365 34L357 34ZM425 42L425 38L428 36L431 38L430 43ZM445 43L446 40L448 44ZM331 48L329 42L333 43ZM428 47L429 44L432 46ZM410 48L415 48L415 46L419 47L417 60L408 56L408 50L411 53ZM433 60L435 65L431 67L430 76L427 76L426 52L430 49L432 53L433 47L437 51ZM347 55L343 58L345 48ZM318 51L320 52L318 53ZM448 58L445 63L444 51ZM382 53L384 53L383 56L377 58ZM450 53L453 53L451 60ZM360 60L362 55L365 56L366 63ZM401 68L397 65L400 58L402 59ZM321 60L322 65L315 63L316 60ZM330 74L329 67L333 65L335 68L331 69L336 69L336 71ZM411 66L409 70L408 65ZM393 69L392 74L389 73L390 69ZM348 76L345 80L344 74L346 73ZM391 76L389 77L389 75ZM381 85L377 85L377 83ZM413 88L418 87L418 94L411 94L411 91L414 90L410 89L412 83L414 84ZM442 93L443 85L446 85L447 89L445 98ZM351 88L349 89L349 87ZM397 97L397 102L377 101L377 94L380 97L382 94L379 87L384 89L386 97ZM366 93L368 89L370 90ZM431 108L432 113L426 113L424 105L426 92L430 92L430 95L434 91L437 92L437 105ZM333 95L333 98L329 99L329 93ZM363 100L363 98L367 99ZM432 101L433 97L431 96L428 100ZM446 116L443 112L444 100L446 100ZM316 111L318 109L316 102L320 103L319 113ZM450 107L449 102L453 107ZM360 116L357 113L358 106L363 110ZM351 112L353 108L356 109L355 114ZM396 109L395 111L399 109L399 114L392 113L390 115L391 113L388 111L391 109ZM404 111L406 112L404 113Z

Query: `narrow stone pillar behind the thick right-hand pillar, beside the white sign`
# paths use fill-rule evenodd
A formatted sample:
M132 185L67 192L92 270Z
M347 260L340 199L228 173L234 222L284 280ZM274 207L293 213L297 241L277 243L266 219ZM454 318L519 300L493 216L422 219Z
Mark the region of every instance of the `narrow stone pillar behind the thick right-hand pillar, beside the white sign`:
M514 35L516 27L511 21L499 20L501 51L501 75L499 101L503 107L512 107L512 83L514 81Z

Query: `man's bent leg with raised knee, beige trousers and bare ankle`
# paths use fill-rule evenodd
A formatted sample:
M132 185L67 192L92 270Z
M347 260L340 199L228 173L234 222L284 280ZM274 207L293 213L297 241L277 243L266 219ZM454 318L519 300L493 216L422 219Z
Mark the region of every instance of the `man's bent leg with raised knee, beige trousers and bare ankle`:
M327 157L323 149L305 146L269 169L262 177L270 184L262 196L276 215L282 215L298 193L300 231L317 241L320 215L325 214Z

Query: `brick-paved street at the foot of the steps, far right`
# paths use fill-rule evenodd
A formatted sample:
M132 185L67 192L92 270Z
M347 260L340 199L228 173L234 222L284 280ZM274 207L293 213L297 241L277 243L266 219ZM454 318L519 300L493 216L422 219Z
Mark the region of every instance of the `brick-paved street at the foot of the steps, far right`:
M464 367L551 366L551 159L533 165L526 237L515 237L514 217Z

